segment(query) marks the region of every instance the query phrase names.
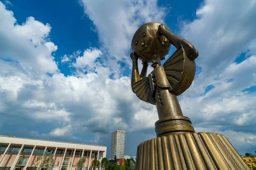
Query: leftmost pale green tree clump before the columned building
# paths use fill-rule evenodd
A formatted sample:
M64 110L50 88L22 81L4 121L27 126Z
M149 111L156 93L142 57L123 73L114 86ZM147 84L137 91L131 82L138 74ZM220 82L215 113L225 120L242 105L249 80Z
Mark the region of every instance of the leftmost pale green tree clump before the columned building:
M46 168L47 170L52 170L54 163L54 156L47 156L45 153L40 153L37 157L34 166L37 167L37 170L41 170L42 167Z

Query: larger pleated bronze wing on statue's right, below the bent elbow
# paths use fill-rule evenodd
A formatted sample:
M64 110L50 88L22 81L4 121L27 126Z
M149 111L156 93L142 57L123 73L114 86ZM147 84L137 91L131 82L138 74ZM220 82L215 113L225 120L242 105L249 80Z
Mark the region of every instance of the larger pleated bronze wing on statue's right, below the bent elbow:
M195 61L189 59L181 46L163 64L166 77L171 88L170 92L182 94L192 84L195 77Z

